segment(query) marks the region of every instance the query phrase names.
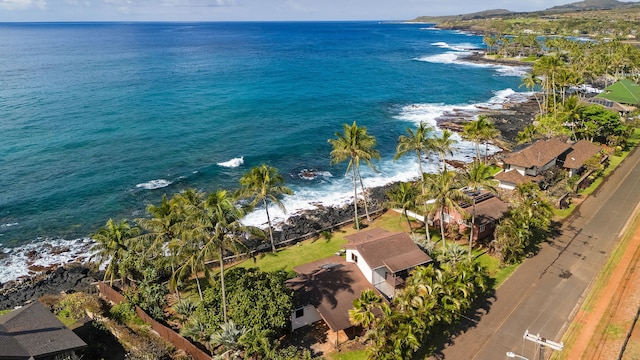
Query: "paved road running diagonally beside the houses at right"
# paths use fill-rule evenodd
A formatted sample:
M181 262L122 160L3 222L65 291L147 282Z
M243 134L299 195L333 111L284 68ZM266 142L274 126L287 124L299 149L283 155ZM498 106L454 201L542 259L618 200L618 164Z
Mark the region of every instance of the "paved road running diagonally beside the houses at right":
M475 328L453 339L437 358L508 359L507 351L541 359L525 330L560 342L575 312L636 206L640 204L640 151L634 151L496 292ZM544 357L552 353L546 349Z

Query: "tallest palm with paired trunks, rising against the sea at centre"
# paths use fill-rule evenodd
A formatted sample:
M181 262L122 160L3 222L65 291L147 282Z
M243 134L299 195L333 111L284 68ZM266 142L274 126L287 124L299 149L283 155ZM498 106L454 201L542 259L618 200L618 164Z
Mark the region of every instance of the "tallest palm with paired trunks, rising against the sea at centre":
M337 139L329 139L329 143L333 147L331 150L331 164L341 163L349 159L347 165L347 174L352 172L353 177L353 209L354 209L354 221L356 229L360 230L360 224L358 219L358 180L362 187L363 195L365 197L365 211L367 212L367 218L369 212L367 211L367 199L362 186L362 178L360 174L360 161L364 161L372 169L375 169L371 160L379 159L380 154L374 149L376 145L376 138L367 134L367 128L362 126L358 127L354 121L352 125L342 125L344 133L336 132Z

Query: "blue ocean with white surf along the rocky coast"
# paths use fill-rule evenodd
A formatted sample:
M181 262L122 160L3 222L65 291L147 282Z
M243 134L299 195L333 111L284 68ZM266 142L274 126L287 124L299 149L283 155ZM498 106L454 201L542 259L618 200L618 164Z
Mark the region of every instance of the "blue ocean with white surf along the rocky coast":
M189 187L235 189L262 163L295 191L280 221L346 204L327 142L343 123L377 138L366 186L415 178L413 157L393 161L407 127L527 97L526 69L461 59L478 48L428 24L0 24L0 282L86 259L109 218ZM455 158L473 154L461 142Z

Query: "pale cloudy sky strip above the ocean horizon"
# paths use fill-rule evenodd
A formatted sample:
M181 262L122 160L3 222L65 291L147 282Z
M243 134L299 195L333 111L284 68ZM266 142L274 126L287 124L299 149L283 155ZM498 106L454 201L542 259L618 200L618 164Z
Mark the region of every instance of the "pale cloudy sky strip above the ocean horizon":
M409 20L487 9L536 11L573 1L0 0L0 22Z

